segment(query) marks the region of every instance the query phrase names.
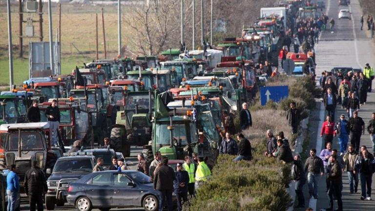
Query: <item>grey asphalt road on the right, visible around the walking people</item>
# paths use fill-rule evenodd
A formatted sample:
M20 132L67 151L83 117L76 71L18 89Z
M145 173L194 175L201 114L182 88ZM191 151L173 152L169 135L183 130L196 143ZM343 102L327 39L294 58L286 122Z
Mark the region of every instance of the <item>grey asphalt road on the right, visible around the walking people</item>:
M316 46L316 75L317 80L319 79L323 70L330 71L333 66L352 66L360 67L363 69L365 63L370 63L371 66L375 66L375 47L368 36L367 30L360 30L360 16L361 10L359 7L358 0L352 0L351 5L338 6L337 0L327 0L326 2L326 13L330 18L335 21L334 33L329 31L322 32L319 44ZM352 20L338 20L337 15L340 9L349 8L352 12ZM327 27L329 28L329 27ZM365 28L365 27L364 27ZM369 93L367 98L367 104L361 106L359 116L363 118L367 124L371 118L371 113L375 111L375 94L374 87L375 83L373 80L373 90ZM310 118L311 125L311 142L310 148L316 148L317 154L320 153L321 149L324 148L322 139L320 138L320 128L324 121L324 106L322 103L317 102L315 111L312 112ZM337 106L335 116L338 117L340 114L346 114L346 111ZM372 143L370 136L367 132L361 136L361 145L366 145L369 152L373 152ZM333 148L339 149L337 138L333 139ZM319 198L310 199L307 185L304 186L305 204L311 207L314 211L324 211L329 206L329 199L325 191L325 176L319 180L318 195ZM343 173L343 209L344 211L374 211L375 210L375 174L373 175L372 184L372 198L373 201L362 201L360 200L360 185L358 193L349 193L349 184L346 172ZM337 204L335 203L335 209ZM295 209L296 211L304 211L305 209Z

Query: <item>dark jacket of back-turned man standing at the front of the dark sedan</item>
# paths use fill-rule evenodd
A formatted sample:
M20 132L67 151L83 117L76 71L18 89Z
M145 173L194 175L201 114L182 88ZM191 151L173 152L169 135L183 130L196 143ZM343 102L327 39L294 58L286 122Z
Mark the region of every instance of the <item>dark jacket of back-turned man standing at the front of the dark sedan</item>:
M174 170L163 165L154 172L154 189L156 190L174 190L173 181L176 180Z

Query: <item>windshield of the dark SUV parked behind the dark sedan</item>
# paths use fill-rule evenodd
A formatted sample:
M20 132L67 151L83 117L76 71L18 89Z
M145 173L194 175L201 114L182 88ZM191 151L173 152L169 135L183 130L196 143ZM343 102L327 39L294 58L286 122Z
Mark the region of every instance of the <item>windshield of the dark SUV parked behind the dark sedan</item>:
M91 159L60 159L56 162L53 172L87 171L92 172Z

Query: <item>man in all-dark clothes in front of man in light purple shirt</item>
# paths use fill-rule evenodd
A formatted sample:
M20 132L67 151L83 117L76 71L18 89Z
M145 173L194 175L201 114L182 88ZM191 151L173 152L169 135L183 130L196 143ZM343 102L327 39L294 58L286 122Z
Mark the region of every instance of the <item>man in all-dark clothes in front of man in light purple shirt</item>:
M330 207L326 211L333 211L333 196L337 200L338 209L335 211L342 211L342 199L341 199L341 184L342 184L342 173L341 167L337 162L337 155L330 157L333 166L331 170L327 172L327 178L330 180L330 188L328 190L328 196L330 197Z

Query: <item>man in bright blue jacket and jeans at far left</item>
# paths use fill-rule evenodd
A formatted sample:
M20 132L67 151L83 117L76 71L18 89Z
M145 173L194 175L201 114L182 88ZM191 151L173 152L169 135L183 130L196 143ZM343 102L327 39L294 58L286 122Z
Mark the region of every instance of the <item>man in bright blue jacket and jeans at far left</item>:
M20 181L16 174L16 165L9 166L9 173L6 176L6 194L8 195L7 211L15 211L19 205Z

